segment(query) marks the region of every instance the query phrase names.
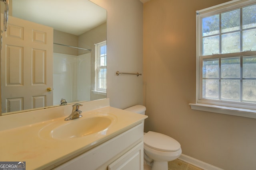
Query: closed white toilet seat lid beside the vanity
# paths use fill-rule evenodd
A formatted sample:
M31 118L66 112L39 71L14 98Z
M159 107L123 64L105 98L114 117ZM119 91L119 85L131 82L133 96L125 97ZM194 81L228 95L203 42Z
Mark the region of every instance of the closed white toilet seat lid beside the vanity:
M144 135L144 145L162 152L175 152L180 150L180 143L162 133L148 131Z

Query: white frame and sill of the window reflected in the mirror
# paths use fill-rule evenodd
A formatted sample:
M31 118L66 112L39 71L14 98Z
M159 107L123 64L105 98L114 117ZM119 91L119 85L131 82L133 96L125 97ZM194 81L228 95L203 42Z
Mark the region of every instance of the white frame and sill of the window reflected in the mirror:
M106 66L99 66L100 63L100 47L106 45L106 41L95 44L95 90L94 93L106 95L106 89L99 88L99 68L107 68Z

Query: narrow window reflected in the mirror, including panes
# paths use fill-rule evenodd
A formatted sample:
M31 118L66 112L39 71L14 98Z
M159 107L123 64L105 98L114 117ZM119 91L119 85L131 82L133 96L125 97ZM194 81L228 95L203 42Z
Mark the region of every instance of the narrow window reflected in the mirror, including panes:
M95 44L95 90L106 92L107 89L107 45L106 41Z

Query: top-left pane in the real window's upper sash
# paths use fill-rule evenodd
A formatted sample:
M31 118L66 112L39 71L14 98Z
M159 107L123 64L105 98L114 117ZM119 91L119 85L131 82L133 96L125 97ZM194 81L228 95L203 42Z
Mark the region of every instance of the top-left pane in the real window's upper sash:
M202 19L203 36L220 33L219 15L210 16Z

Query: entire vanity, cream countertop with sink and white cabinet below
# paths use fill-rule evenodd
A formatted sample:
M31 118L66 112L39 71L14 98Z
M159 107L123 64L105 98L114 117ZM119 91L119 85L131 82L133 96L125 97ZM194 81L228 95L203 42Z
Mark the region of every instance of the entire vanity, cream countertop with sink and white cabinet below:
M70 105L1 116L0 160L23 160L27 170L143 170L148 116L111 107L109 99L81 104L83 117L71 121L64 121Z

